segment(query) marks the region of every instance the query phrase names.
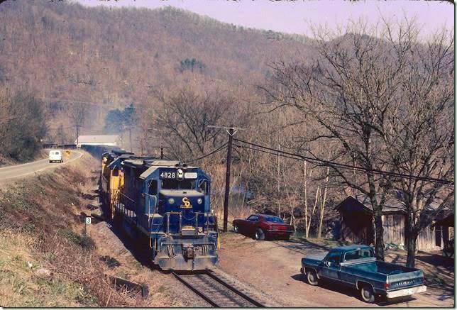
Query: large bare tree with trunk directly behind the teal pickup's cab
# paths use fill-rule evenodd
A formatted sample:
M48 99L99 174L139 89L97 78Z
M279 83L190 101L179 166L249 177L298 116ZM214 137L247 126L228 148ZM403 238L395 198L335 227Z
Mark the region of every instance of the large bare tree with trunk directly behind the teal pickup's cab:
M419 50L424 46L417 41L416 28L408 22L396 27L395 31L387 23L381 31L378 28L370 30L363 24L357 24L346 29L346 33L340 34L336 37L322 29L316 31L316 58L304 62L273 63L272 70L275 74L272 84L260 88L268 95L268 104L273 104L275 109L292 106L309 123L314 122L321 128L321 131L309 133L303 140L307 143L319 141L322 144L334 145L333 154L325 165L331 168L332 175L338 177L342 184L362 192L370 199L375 218L376 255L383 260L382 206L395 191L398 182L403 181L392 177L389 172L399 172L402 169L402 172L415 172L423 177L449 175L440 175L439 170L426 169L430 161L426 161L423 169L417 167L414 171L409 167L410 162L402 162L404 165L399 167L402 156L390 153L400 149L400 145L403 147L404 143L400 142L405 135L410 135L405 131L407 126L402 123L407 116L400 116L400 111L410 116L414 114L412 107L417 108L417 111L424 111L424 104L432 98L425 95L436 96L444 88L447 91L441 96L441 101L432 101L437 104L431 109L436 109L435 114L439 115L438 103L441 102L443 107L453 100L453 87L452 91L449 89L450 85L453 85L452 74L449 74L453 73L453 58L448 57L451 51L453 52L453 42L445 44L446 40L440 39L443 36L436 36L428 43L429 48L419 54ZM436 57L436 54L446 54L446 57ZM422 60L422 63L419 63L419 60ZM444 72L447 72L447 75ZM425 88L421 92L419 88L412 89L407 77L419 88ZM414 117L412 116L412 120ZM427 116L422 119L424 124L430 120ZM436 119L446 118L436 116ZM449 126L452 128L452 125L446 122L445 127ZM394 134L397 139L387 138L392 131L397 131ZM424 133L424 137L428 137L424 139L428 139L430 146L441 143L453 145L453 142L443 135L428 135L426 130L420 132ZM431 141L435 141L436 145ZM409 143L407 150L401 154L413 153L414 159L417 159L422 155L419 151L422 148L421 143ZM327 160L310 148L303 150L310 157ZM397 157L399 160L394 160ZM446 171L453 172L450 158L446 160ZM442 157L440 159L442 160ZM336 165L336 162L346 166ZM358 168L348 169L349 166ZM406 169L407 167L409 168ZM356 176L355 170L358 171ZM379 174L378 171L386 171L387 174ZM409 186L414 187L414 184ZM421 191L408 191L408 194L409 201L424 199ZM433 201L433 196L436 196L436 192L429 190L424 201ZM416 228L422 227L424 223L426 221L422 221ZM409 255L412 255L410 251Z

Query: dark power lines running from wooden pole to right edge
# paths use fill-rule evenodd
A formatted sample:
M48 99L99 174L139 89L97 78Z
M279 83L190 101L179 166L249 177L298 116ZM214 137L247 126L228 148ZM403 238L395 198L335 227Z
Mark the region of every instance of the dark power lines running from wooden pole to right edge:
M282 150L275 150L274 148L268 148L268 147L263 146L263 145L258 145L258 144L255 144L255 143L249 143L249 142L244 141L244 140L239 140L239 139L233 139L233 140L236 140L236 141L241 142L241 143L246 143L248 145L253 145L253 146L257 147L257 148L263 148L265 150L270 150L272 152L275 152L275 153L269 153L271 155L280 155L282 157L285 157L285 156L281 155L281 154L289 155L288 158L291 158L291 159L294 159L294 160L300 160L301 159L301 160L307 160L307 161L312 162L312 163L321 162L321 163L325 164L326 166L330 166L330 167L332 167L332 166L341 167L341 168L344 168L344 169L356 170L356 171L359 171L359 172L372 172L372 173L375 173L375 174L378 174L378 175L389 175L391 177L407 177L407 178L410 178L410 179L417 179L417 180L426 181L426 182L453 184L453 181L448 180L448 179L436 179L434 177L420 177L420 176L417 176L417 175L404 175L402 173L388 172L388 171L383 171L383 170L378 170L378 169L369 170L369 169L364 168L364 167L346 165L346 164L343 164L343 163L340 163L340 162L331 162L329 160L319 160L319 159L312 158L312 157L307 157L307 156L304 156L304 155L288 153L288 152L285 152L285 151L282 151ZM246 146L241 146L241 148L247 148L247 147ZM251 148L251 149L252 150L258 150L258 149L253 149L253 148ZM265 152L263 150L258 150L258 151L267 153L267 152ZM297 158L297 157L299 157L299 158Z

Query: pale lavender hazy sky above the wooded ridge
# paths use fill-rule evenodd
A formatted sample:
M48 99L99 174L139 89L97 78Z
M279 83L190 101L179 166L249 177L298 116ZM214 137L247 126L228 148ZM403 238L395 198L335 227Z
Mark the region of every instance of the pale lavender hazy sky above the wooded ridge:
M379 21L380 16L417 18L422 33L437 28L454 28L454 6L446 1L268 1L268 0L77 0L88 6L136 6L155 9L175 6L219 21L250 28L309 35L310 25L345 25L348 20L366 18Z

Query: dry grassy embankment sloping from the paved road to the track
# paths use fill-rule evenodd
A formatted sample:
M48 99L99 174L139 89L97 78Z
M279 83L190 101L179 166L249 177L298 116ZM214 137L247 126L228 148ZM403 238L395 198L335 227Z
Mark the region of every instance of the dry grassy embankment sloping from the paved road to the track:
M0 191L1 306L144 305L111 287L93 240L82 233L97 164L87 155ZM41 267L52 275L35 275Z

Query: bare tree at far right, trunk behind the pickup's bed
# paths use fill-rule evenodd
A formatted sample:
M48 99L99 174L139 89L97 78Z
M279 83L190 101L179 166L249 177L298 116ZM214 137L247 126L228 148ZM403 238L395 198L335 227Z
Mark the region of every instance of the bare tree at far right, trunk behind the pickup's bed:
M446 179L453 179L455 160L453 35L439 31L424 45L412 43L397 104L378 124L387 150L386 165L397 173L419 176L393 182L393 194L406 213L410 267L414 267L419 232L441 211L453 209L454 184ZM431 178L441 180L430 182Z

